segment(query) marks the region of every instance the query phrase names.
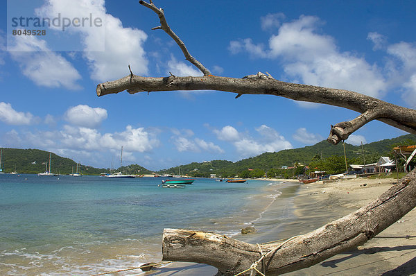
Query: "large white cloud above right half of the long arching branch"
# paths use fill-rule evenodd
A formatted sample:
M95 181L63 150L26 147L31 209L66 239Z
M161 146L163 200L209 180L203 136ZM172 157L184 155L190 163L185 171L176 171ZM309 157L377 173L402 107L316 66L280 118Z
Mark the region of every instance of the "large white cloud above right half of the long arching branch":
M352 53L340 52L333 37L317 33L320 24L318 17L301 16L282 24L278 35L270 37L268 49L247 38L230 42L229 50L279 59L288 78L302 83L380 97L385 92L385 80L379 69Z

